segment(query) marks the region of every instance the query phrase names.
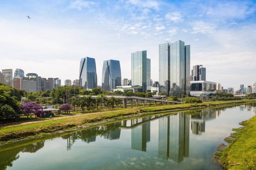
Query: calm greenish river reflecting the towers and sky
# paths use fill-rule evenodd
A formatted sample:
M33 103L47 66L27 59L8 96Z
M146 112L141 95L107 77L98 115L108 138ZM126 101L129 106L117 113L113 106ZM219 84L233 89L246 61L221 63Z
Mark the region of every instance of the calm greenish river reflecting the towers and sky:
M0 147L0 169L216 170L212 154L256 104L146 116Z

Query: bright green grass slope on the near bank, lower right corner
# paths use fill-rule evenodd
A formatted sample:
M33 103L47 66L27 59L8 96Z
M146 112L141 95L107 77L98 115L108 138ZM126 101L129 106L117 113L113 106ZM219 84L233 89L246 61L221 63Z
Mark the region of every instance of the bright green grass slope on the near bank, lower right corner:
M253 155L256 156L256 116L241 123L241 125L245 126L244 129L234 129L238 132L235 134L236 139L231 141L221 154L221 162L231 170L244 169L244 158L250 160ZM240 163L240 165L231 166L231 164L236 163Z

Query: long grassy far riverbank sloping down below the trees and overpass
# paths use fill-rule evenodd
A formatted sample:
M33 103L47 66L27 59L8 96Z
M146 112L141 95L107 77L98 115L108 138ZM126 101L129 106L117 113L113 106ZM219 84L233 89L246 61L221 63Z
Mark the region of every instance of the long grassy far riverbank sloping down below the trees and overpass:
M0 129L0 144L11 143L22 139L29 139L33 137L49 135L57 133L58 131L79 129L81 127L90 127L95 125L95 123L105 123L108 121L123 119L127 117L153 114L153 112L159 113L168 111L168 113L170 113L177 111L203 109L207 107L227 106L252 102L256 102L256 100L237 100L223 102L207 102L199 104L177 104L146 108L132 108L125 110L113 110L109 112L99 112L95 114L82 115L77 117L74 116L65 119L49 120L46 122L10 126Z

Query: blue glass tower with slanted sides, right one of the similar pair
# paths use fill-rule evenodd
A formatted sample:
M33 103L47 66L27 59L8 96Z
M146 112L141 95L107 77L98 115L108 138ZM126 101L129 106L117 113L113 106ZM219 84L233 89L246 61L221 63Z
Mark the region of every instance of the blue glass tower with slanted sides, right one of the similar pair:
M121 86L121 68L118 60L106 60L102 68L101 90L112 90L116 86Z

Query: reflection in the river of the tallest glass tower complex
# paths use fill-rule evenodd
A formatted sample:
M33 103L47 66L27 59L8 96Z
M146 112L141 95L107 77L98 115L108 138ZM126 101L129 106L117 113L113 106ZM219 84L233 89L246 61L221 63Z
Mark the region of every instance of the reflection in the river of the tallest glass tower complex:
M184 112L159 118L159 158L180 162L189 157L189 119Z

